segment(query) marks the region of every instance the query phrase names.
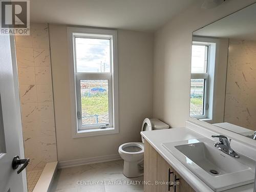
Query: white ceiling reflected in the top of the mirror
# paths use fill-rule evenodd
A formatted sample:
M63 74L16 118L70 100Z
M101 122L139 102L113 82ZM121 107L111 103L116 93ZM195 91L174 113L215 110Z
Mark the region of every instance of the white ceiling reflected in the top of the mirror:
M197 30L193 35L256 40L256 4Z

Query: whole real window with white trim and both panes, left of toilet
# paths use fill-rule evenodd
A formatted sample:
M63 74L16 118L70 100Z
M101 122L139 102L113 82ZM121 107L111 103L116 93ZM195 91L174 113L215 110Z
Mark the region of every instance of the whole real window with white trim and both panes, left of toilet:
M117 32L68 28L68 35L74 137L118 133Z

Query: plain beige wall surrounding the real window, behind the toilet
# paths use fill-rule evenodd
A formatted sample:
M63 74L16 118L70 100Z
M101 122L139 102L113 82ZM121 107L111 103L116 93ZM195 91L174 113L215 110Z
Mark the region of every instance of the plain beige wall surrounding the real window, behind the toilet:
M141 124L153 113L153 35L118 31L119 134L72 138L67 27L50 25L58 160L118 154L140 141Z

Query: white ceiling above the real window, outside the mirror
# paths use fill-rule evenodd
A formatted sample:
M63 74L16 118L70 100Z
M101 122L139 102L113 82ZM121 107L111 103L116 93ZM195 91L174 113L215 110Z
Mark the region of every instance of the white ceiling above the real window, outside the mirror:
M31 0L32 22L155 31L195 0Z

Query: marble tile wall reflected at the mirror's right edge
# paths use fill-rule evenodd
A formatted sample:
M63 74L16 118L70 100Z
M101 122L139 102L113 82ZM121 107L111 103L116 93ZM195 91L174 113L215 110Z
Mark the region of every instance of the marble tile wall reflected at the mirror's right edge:
M224 122L256 131L256 41L229 40Z

